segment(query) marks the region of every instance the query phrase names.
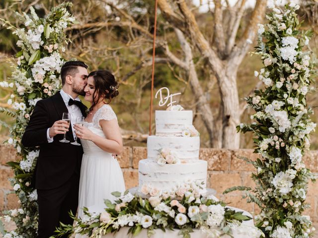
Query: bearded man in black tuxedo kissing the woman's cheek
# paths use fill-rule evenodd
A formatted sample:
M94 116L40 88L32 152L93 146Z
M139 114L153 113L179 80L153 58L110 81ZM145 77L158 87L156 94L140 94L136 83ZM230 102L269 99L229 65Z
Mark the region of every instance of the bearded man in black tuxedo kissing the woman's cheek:
M22 136L23 146L40 147L33 176L39 204L38 238L52 236L59 222L73 224L68 212L77 212L83 150L59 140L66 133L66 139L74 141L72 127L78 116L86 116L86 107L78 98L85 94L86 68L81 61L68 61L62 66L62 90L37 102ZM62 120L64 112L70 113L70 126Z

